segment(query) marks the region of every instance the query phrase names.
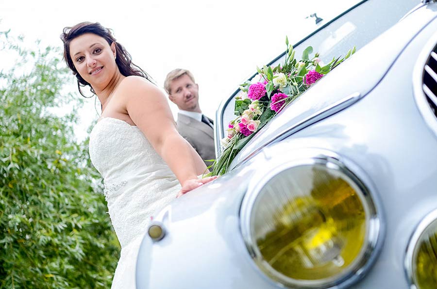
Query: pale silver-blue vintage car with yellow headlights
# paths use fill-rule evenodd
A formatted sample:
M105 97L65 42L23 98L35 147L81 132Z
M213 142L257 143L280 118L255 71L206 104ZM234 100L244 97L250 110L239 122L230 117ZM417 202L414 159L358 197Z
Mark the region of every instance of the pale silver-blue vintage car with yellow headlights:
M137 289L437 288L437 3L356 1L296 55L308 45L326 62L357 52L229 173L154 216ZM218 150L238 93L217 112Z

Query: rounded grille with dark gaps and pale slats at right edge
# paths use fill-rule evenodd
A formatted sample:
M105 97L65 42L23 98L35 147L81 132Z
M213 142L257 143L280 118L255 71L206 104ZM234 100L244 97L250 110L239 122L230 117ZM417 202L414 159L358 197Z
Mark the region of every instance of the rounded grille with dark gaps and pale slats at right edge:
M437 33L420 52L413 71L413 88L419 111L437 136Z

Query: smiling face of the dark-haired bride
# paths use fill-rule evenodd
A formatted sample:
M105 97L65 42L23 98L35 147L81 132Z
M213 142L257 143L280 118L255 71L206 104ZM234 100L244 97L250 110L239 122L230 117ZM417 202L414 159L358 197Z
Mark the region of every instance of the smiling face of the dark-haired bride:
M115 43L101 36L82 34L70 42L70 57L80 76L96 90L103 89L118 71Z

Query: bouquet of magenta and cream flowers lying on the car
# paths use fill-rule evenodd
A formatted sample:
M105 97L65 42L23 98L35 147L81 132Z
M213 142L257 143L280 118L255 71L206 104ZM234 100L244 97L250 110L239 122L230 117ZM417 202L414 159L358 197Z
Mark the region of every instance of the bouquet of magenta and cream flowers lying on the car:
M263 128L298 96L317 80L329 73L338 64L349 58L355 47L344 57L333 58L328 64L320 61L319 53L310 58L313 48L303 50L301 60L294 58L295 50L286 38L286 58L284 64L276 67L257 67L255 80L240 85L243 92L235 97L235 116L228 125L228 135L221 140L221 153L214 162L212 175L222 175L237 153Z

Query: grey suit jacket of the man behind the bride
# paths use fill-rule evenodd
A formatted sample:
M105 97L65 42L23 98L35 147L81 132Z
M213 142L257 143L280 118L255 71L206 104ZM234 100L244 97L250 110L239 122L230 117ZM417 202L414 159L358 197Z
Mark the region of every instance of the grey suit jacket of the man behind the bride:
M202 160L213 160L216 158L213 128L181 113L178 113L176 124L179 133L194 147ZM205 163L207 166L212 164L209 161Z

